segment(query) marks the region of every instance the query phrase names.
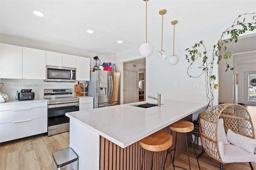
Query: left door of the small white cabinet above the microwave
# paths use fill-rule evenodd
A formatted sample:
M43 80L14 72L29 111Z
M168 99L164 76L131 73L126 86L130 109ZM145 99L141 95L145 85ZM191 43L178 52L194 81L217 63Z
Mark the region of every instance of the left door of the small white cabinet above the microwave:
M46 65L62 66L62 53L46 51Z

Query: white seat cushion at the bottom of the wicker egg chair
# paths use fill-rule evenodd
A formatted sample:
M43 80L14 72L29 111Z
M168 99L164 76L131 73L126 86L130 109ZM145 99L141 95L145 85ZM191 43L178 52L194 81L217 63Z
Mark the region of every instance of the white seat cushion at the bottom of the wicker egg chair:
M233 144L224 144L224 156L222 161L225 163L232 162L256 162L256 154L250 154L242 148Z

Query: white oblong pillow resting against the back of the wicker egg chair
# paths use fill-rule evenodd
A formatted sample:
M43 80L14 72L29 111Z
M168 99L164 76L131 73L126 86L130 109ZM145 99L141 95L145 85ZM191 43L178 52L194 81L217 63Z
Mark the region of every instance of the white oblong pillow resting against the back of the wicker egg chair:
M227 131L227 139L230 143L234 144L235 146L246 150L250 154L254 154L254 150L256 148L255 139L243 136L241 134L237 134L230 129L228 129Z

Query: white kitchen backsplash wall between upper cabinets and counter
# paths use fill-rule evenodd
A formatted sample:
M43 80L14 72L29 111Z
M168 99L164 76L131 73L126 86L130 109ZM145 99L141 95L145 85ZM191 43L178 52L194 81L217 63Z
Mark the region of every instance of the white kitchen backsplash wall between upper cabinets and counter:
M44 80L32 79L1 79L0 91L9 97L9 101L16 100L17 91L21 89L32 89L35 99L44 98L44 89L74 89L78 82L44 82ZM80 81L85 83L86 81ZM74 94L74 93L73 93Z

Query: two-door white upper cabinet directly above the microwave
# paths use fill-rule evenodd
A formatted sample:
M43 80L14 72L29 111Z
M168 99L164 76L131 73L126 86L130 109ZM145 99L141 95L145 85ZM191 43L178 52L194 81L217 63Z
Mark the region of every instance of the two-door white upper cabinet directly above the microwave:
M76 56L46 51L46 65L76 68Z

